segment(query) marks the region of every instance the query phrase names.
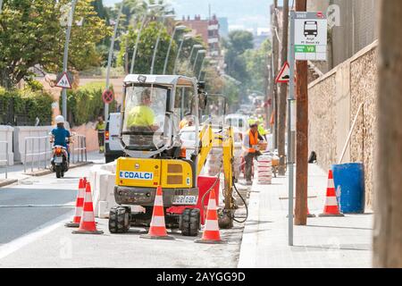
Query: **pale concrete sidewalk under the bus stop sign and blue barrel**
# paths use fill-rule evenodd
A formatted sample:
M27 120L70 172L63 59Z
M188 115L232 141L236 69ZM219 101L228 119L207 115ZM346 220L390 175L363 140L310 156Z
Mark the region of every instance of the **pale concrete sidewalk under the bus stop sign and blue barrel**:
M309 166L308 206L320 214L328 173ZM309 218L294 227L288 245L288 177L272 185L253 185L249 216L241 243L239 268L368 268L372 267L373 214Z

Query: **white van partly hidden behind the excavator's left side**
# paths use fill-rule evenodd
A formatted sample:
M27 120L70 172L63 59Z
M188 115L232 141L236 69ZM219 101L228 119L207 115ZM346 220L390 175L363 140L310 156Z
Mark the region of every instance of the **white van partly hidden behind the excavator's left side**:
M105 130L105 160L106 163L124 156L120 144L121 114L109 114Z

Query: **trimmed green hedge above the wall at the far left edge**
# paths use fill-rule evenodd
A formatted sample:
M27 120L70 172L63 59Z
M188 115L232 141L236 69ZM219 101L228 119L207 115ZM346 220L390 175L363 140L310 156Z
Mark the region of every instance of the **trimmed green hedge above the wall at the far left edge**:
M0 87L0 124L39 125L52 122L53 97L38 82L23 89L6 90Z

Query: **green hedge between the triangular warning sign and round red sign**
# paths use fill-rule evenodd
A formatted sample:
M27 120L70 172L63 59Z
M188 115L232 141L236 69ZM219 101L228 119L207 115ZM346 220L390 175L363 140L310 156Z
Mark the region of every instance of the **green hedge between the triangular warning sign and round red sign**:
M113 87L111 88L113 90ZM67 110L71 126L80 126L87 122L96 122L99 115L104 114L105 104L102 100L102 93L105 90L105 83L90 82L78 90L67 92ZM63 110L62 98L60 108ZM109 111L116 110L116 102L109 105Z

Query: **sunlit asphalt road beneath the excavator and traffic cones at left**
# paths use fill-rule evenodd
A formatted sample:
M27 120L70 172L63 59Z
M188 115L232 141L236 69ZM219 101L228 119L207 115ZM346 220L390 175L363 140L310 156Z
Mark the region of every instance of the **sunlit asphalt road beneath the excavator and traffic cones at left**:
M70 221L79 179L90 166L72 169L63 180L54 174L0 189L0 267L237 267L243 225L221 231L223 245L197 238L144 240L147 229L111 234L107 220L96 219L102 235L72 234Z

